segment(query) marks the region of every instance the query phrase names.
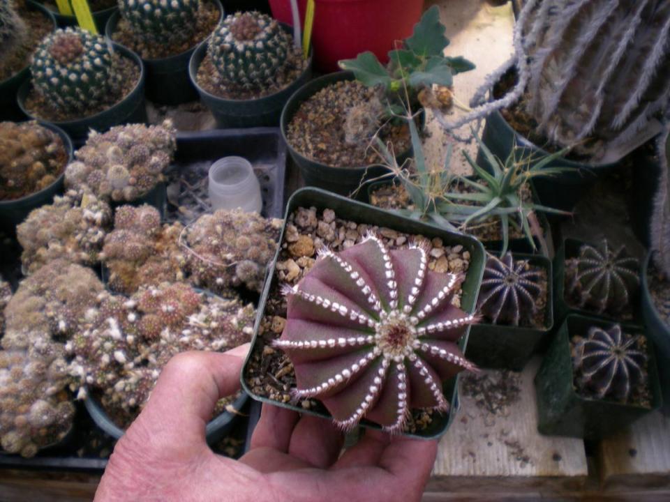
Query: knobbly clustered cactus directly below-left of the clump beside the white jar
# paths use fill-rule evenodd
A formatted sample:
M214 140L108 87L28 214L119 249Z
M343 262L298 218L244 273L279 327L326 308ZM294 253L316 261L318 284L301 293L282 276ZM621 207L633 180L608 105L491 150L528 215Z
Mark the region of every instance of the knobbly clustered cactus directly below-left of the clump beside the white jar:
M70 191L54 197L53 204L34 209L16 227L24 270L32 273L59 258L82 265L97 264L111 220L109 204L95 195L84 194L80 199Z

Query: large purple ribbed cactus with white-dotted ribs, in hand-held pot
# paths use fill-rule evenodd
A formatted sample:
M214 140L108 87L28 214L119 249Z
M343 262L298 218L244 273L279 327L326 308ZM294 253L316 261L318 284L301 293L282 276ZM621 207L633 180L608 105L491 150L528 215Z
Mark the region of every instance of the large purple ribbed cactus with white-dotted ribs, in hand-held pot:
M375 236L324 250L294 287L274 347L295 367L295 398L315 397L344 430L363 418L403 431L416 408L446 411L442 381L474 365L457 340L475 316L452 305L463 275L428 270L416 245L388 251Z

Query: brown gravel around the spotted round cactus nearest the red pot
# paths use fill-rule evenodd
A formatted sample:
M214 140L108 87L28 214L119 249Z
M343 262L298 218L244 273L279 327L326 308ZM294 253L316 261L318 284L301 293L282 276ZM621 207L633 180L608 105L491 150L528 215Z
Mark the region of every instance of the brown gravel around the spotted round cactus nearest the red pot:
M265 89L244 89L242 87L228 86L218 75L218 71L214 68L209 54L204 56L200 68L198 68L198 85L205 91L219 98L230 100L252 100L270 96L278 93L282 89L290 86L298 77L307 69L309 61L303 59L302 50L293 46L293 37L287 33L287 38L290 43L290 50L286 57L286 62L279 70L272 84Z

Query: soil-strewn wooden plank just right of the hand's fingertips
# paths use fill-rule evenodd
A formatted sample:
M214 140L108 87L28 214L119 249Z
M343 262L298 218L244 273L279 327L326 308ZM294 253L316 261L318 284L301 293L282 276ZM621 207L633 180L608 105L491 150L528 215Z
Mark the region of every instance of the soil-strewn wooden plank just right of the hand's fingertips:
M486 383L475 392L463 379L461 411L440 441L427 492L558 493L583 487L583 441L537 432L533 378L539 362L534 358L521 373L484 370ZM508 390L500 390L504 386ZM484 389L479 403L477 389Z

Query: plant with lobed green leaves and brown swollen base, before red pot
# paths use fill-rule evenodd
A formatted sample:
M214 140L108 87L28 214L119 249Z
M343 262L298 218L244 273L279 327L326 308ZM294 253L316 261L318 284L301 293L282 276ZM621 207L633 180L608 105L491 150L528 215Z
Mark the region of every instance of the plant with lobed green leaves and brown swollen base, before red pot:
M356 59L339 62L343 70L352 70L362 84L379 89L378 96L350 109L345 135L348 142L368 141L380 123L394 119L404 111L403 102L416 107L452 106L453 77L475 68L461 56L443 54L449 39L440 23L440 10L426 10L414 32L400 47L389 51L389 63L382 65L372 52L362 52ZM433 85L436 86L433 89Z

